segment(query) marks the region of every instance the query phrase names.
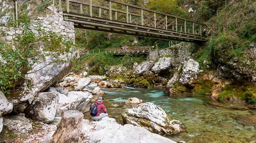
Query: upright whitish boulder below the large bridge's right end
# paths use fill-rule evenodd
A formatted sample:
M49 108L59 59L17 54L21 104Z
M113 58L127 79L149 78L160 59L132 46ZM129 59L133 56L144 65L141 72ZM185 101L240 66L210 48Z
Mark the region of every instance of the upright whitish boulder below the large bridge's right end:
M197 74L200 72L199 63L193 59L185 61L182 68L182 73L180 75L181 84L191 84L195 79L197 79Z

